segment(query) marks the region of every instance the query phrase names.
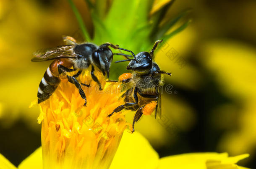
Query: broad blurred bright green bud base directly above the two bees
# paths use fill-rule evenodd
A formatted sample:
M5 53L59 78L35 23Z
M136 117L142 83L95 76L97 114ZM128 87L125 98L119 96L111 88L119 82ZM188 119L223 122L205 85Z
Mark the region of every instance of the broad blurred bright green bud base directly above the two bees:
M149 8L151 4L147 0L114 0L104 20L112 43L138 51L142 41L147 40L148 36L146 32L140 32L136 35L136 40L131 40L131 34L148 23Z

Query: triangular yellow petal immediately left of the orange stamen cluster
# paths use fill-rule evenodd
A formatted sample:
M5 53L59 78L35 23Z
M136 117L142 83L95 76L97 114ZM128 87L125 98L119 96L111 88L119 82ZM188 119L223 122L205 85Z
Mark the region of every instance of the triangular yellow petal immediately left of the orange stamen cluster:
M30 154L21 164L18 166L18 169L42 169L43 161L42 161L42 148L39 147Z

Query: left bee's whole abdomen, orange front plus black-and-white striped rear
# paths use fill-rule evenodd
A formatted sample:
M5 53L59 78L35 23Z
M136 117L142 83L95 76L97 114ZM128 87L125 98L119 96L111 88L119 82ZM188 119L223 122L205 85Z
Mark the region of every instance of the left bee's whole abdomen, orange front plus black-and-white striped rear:
M44 73L37 91L38 103L47 100L60 84L58 65L70 67L70 63L61 60L53 61Z

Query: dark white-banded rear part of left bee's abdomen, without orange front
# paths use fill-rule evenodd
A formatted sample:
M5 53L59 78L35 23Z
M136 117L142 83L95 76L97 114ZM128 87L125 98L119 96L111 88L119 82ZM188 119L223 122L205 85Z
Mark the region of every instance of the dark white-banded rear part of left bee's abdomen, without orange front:
M52 75L50 68L47 68L47 71L44 73L39 88L37 91L38 103L47 100L52 93L56 90L60 83L60 79Z

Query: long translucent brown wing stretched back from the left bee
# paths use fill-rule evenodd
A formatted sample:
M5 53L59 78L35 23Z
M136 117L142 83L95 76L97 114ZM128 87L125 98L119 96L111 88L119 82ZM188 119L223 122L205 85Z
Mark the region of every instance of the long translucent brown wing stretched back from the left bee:
M73 52L75 45L57 46L51 49L42 49L35 52L32 62L49 61L60 58L76 58L77 54Z

